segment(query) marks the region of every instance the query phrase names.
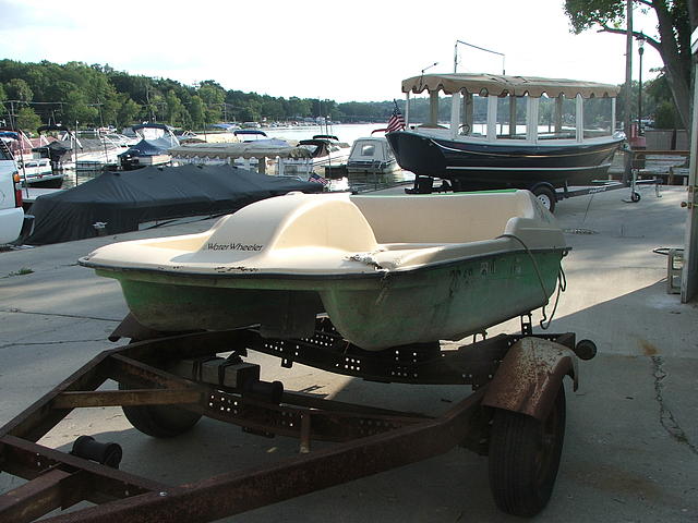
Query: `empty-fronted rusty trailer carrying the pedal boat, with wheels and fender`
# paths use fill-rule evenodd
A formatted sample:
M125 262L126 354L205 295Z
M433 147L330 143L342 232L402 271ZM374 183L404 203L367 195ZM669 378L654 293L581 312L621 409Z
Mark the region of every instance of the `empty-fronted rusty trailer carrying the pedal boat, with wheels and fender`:
M320 319L315 336L268 340L255 329L161 333L127 318L97 355L0 429L0 471L27 479L0 495L0 521L204 522L346 483L462 446L489 454L490 484L504 511L530 516L555 482L565 422L563 378L577 385L577 358L595 346L574 333L484 338L381 352L351 345ZM141 340L141 341L136 341ZM438 416L326 400L260 380L248 351L374 381L469 385L473 392ZM107 380L118 390L97 390ZM172 437L202 416L265 436L300 440L299 454L270 466L167 485L119 470L122 448L79 437L70 453L37 441L72 410L120 405L135 428ZM313 441L332 441L313 450ZM81 501L85 508L69 509ZM83 503L87 504L87 503Z

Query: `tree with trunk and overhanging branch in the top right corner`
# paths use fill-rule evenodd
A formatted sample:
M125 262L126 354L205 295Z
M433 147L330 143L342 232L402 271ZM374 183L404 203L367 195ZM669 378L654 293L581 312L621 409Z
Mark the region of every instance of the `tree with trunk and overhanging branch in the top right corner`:
M592 27L601 32L626 35L624 27L626 1L633 0L565 0L565 12L576 34ZM694 0L635 0L657 14L657 35L645 36L648 45L660 53L674 104L685 129L690 129L691 53L690 33L698 22Z

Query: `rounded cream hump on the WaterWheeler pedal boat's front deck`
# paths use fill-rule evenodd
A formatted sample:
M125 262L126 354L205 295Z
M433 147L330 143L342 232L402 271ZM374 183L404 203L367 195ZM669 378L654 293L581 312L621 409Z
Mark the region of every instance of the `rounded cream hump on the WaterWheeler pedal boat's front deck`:
M347 195L289 194L220 219L200 253L226 252L234 259L313 246L351 253L377 247L371 227Z

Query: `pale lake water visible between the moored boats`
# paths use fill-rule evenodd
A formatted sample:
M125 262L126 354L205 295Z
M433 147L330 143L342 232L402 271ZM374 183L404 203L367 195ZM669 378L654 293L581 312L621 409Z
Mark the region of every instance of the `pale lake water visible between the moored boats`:
M335 125L299 125L292 127L264 127L267 136L273 138L284 138L288 141L301 141L312 138L316 134L332 134L351 145L357 138L370 136L372 131L385 129L386 124L381 123L356 123L356 124L335 124ZM383 133L376 133L376 136L383 136ZM63 188L70 188L76 184L84 183L93 178L101 174L101 171L81 171L68 170ZM384 186L395 185L402 182L414 180L414 175L408 171L398 170L389 175L374 174L352 174L349 177L351 188L357 191L365 191L373 188L382 188Z

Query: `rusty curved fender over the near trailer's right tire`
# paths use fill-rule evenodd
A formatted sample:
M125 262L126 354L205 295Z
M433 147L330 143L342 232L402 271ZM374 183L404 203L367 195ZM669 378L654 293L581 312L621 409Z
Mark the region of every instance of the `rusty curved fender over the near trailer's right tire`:
M542 338L522 338L500 364L482 404L545 419L565 376L573 378L577 390L577 356L570 349Z

